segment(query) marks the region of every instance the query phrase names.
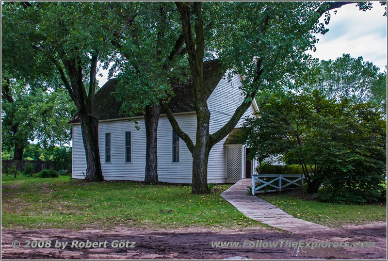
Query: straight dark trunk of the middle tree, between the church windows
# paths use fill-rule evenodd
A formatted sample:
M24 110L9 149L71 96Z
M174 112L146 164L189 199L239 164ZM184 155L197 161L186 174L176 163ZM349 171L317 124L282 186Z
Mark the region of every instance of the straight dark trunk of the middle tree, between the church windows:
M144 122L146 124L146 184L157 184L158 179L158 123L160 105L146 106Z

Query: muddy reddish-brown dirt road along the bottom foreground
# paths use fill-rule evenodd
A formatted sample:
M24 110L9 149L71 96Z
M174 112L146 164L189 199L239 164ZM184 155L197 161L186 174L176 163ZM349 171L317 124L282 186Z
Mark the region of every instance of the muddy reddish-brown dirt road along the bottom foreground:
M178 229L171 231L136 228L115 228L113 230L66 230L66 229L2 229L2 259L226 259L240 256L248 259L386 259L386 223L360 227L346 227L341 230L314 234L292 234L269 228L220 230L204 228ZM21 245L13 248L12 242ZM51 240L49 248L26 248L26 240ZM67 242L65 248L54 247L54 243ZM75 248L73 240L94 242L107 241L107 248ZM114 240L136 242L133 248L113 248ZM373 248L323 248L297 247L227 247L214 248L211 242L240 242L259 240L292 242L305 240L327 242L376 242ZM123 242L124 244L124 242Z

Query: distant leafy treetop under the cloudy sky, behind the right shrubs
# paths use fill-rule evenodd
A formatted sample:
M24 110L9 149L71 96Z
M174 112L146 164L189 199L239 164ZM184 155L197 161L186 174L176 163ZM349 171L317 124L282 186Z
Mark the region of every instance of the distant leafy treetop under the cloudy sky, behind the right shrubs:
M387 72L362 57L350 54L328 61L316 61L295 84L307 92L322 91L327 98L352 98L356 102L373 101L385 104L387 99Z

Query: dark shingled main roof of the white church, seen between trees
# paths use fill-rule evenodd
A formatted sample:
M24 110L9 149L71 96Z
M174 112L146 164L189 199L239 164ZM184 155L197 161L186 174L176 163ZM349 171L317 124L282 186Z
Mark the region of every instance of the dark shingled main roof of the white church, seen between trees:
M221 81L225 71L219 60L212 60L203 63L205 96L209 98L218 82ZM126 117L121 113L121 102L116 101L113 92L116 88L116 79L110 79L95 94L93 102L93 114L99 120L116 119ZM177 83L173 86L175 96L170 99L168 106L173 113L194 112L194 86L193 81L189 83ZM161 109L161 114L165 112ZM68 122L80 122L78 113Z

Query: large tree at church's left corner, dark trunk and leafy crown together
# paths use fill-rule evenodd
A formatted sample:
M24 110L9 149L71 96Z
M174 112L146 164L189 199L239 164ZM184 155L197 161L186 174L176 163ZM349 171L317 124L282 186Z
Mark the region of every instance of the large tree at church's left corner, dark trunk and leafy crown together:
M103 180L93 99L97 86L97 62L107 62L112 58L112 33L102 29L102 24L110 20L107 4L31 1L5 2L1 8L2 21L6 21L3 26L10 28L2 35L9 40L7 48L12 49L23 39L23 47L28 49L12 53L8 61L23 63L34 59L47 64L60 75L74 101L80 116L87 161L86 179L89 181ZM26 74L26 68L18 69Z

